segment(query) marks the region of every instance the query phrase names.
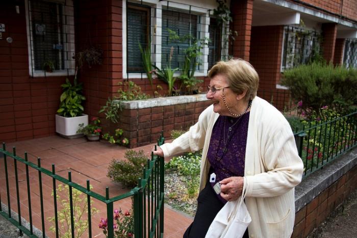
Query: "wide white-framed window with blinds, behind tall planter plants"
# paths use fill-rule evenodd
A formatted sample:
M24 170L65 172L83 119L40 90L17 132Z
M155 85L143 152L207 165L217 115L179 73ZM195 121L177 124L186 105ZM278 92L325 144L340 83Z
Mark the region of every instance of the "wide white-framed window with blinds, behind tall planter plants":
M212 7L215 1L210 0ZM172 68L182 68L185 50L192 40L179 42L169 39L168 29L180 37L191 35L196 39L209 38L209 9L187 4L160 0L130 0L123 4L123 77L146 77L142 66L139 42L143 46L150 43L151 63L158 68L167 65L173 46ZM213 46L212 46L213 47ZM209 48L201 49L195 76L204 76L208 70ZM179 72L177 72L179 73Z

